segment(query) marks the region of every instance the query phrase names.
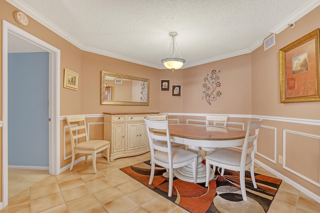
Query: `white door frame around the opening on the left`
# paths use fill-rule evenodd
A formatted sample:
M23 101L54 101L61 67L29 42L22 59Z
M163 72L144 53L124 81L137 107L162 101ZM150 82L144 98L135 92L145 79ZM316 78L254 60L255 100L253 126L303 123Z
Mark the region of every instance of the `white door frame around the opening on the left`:
M49 174L60 172L60 50L2 20L2 205L8 204L8 38L15 35L49 53ZM2 208L1 208L2 206Z

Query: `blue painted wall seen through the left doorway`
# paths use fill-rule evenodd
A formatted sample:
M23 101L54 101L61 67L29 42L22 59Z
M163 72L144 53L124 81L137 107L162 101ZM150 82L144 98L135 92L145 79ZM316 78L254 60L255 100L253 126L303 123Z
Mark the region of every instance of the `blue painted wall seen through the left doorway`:
M49 166L47 52L8 54L8 165Z

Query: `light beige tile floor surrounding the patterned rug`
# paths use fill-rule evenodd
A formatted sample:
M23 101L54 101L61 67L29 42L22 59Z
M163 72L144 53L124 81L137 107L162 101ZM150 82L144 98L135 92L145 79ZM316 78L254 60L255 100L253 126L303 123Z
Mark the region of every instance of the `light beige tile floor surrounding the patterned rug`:
M146 153L116 159L110 164L104 158L97 158L97 174L92 174L91 162L80 162L72 171L48 176L12 196L0 213L186 213L119 170L149 158ZM258 165L254 171L275 177ZM268 211L319 212L319 203L285 182Z

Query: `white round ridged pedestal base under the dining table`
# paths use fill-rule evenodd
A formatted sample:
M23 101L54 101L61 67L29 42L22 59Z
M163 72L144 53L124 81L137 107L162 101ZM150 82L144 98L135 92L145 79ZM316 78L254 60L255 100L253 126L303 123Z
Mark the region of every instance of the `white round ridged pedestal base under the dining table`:
M198 155L197 166L196 166L196 183L204 183L205 178L206 178L206 171L205 171L205 165L202 164L203 158L200 155L200 148L188 146L188 150L190 150ZM180 179L182 181L193 183L192 164L174 169L174 175L175 175L175 177L177 177L178 179ZM213 176L214 176L214 172L212 169L210 169L209 180L211 180L213 178Z

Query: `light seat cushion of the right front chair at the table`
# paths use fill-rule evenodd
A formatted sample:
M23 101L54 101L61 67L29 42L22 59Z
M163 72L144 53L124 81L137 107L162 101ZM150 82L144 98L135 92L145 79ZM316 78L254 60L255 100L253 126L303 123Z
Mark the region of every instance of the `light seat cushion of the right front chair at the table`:
M241 152L230 149L218 149L206 155L205 159L224 165L239 167L241 160ZM250 163L251 156L246 155L245 165L248 165Z

